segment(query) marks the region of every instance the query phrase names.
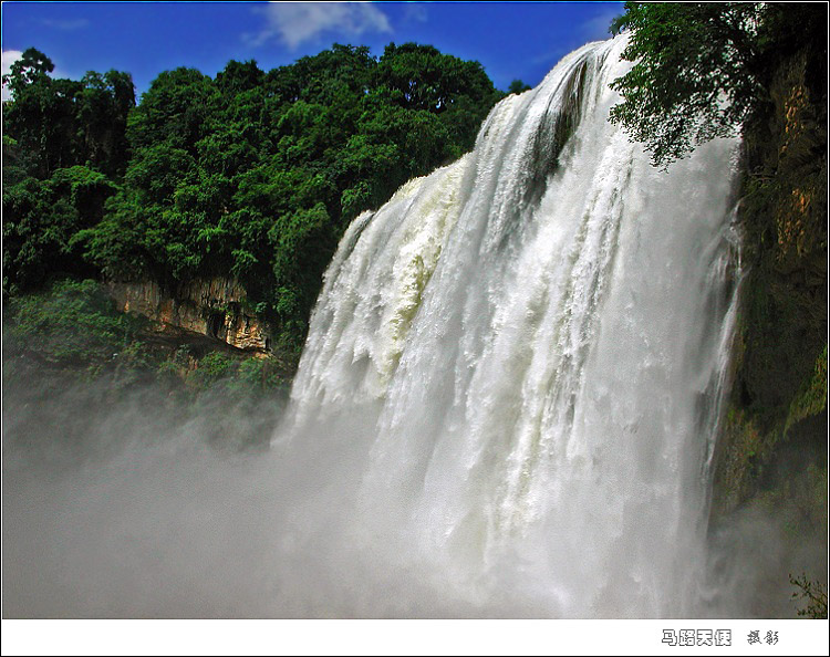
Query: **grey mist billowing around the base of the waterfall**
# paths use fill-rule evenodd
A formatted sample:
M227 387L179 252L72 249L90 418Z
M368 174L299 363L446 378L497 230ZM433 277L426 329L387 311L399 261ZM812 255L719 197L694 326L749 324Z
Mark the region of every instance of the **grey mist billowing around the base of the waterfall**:
M27 382L37 386L39 382ZM100 384L102 387L104 384ZM474 588L360 501L365 413L270 444L284 399L184 411L146 385L114 404L75 384L24 407L3 394L7 618L551 617L529 562L502 559ZM85 400L85 403L84 403ZM216 435L217 421L222 424ZM351 429L347 427L351 425ZM344 429L345 427L345 429ZM234 438L261 434L240 448ZM82 434L82 436L81 436ZM787 569L820 565L781 522L743 511L710 532L703 617L791 617ZM826 560L826 552L823 552Z

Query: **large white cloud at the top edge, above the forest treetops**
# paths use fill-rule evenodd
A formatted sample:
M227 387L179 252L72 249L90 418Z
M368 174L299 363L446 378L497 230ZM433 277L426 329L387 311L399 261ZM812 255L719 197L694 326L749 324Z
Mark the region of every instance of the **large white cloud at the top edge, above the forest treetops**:
M248 36L253 45L277 39L294 50L323 32L344 36L392 32L386 14L369 2L270 2L255 11L266 17L266 25Z

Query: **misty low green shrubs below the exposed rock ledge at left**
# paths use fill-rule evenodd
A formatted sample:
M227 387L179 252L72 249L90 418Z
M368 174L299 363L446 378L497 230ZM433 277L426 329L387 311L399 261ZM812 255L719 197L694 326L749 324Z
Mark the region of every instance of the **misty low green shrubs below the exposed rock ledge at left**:
M103 285L93 280L56 281L33 294L13 296L4 307L3 348L39 374L52 372L85 380L110 377L118 389L158 379L198 394L221 385L237 397L284 388L292 364L250 356L206 338L157 333L151 322L120 313ZM6 373L4 373L6 375ZM19 383L18 383L19 386Z

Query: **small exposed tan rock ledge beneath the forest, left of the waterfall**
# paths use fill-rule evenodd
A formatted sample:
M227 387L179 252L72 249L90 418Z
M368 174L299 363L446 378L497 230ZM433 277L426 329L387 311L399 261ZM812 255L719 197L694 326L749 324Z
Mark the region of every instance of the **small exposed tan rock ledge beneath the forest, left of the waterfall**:
M110 283L110 294L122 312L134 312L163 326L184 328L231 346L267 354L271 330L247 310L245 289L236 281L196 280L166 293L153 282Z

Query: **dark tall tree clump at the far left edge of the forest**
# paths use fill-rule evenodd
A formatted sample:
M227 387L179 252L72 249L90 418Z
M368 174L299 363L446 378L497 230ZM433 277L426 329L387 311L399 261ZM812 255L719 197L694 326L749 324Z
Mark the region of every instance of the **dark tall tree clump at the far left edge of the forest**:
M3 84L3 291L35 289L61 274L90 275L72 239L97 225L128 157L127 114L135 104L128 74L90 72L53 80L34 49Z

